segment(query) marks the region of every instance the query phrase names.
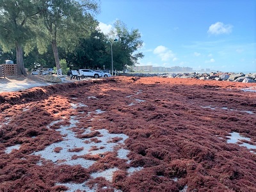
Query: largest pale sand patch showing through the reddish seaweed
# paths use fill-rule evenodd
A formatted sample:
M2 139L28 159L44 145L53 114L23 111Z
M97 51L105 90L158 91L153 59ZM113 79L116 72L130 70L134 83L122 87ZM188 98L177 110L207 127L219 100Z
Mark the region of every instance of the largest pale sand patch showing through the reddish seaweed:
M54 163L58 164L81 164L84 168L89 168L92 166L95 161L86 160L83 158L79 159L72 159L72 156L83 156L85 154L104 154L105 152L113 152L114 148L118 145L124 144L124 140L128 138L125 134L109 134L108 130L106 129L99 129L97 131L100 132L100 136L96 136L94 138L97 138L100 140L100 143L94 143L90 142L92 138L86 138L86 139L79 139L76 137L76 133L71 130L71 128L76 127L76 124L78 120L75 119L76 116L71 116L70 118L70 125L68 126L61 126L60 129L57 131L60 132L60 134L63 135L64 140L60 141L58 143L53 143L52 145L49 145L44 150L34 152L33 155L40 155L44 159L49 159ZM88 127L87 129L84 129L84 134L91 133L91 127ZM113 138L122 138L122 140L113 143L111 142ZM84 141L89 141L90 143L84 143ZM61 147L62 149L60 152L54 152L54 148ZM99 148L98 150L92 150L92 148ZM79 152L70 152L70 150L74 148L81 148Z

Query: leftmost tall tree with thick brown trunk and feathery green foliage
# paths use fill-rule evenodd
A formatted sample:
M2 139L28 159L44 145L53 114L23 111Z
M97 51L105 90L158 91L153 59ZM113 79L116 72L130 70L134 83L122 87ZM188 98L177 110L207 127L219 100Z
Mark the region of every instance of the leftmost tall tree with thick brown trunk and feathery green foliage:
M0 45L5 52L16 49L18 74L26 74L23 48L35 33L28 21L40 12L40 0L0 0Z

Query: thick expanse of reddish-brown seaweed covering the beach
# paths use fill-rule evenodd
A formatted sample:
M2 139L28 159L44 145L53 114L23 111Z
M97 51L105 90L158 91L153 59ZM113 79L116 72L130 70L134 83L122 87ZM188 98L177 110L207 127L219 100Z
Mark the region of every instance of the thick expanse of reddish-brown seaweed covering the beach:
M248 85L256 86L113 77L0 93L0 191L66 191L70 183L92 191L256 191L256 150L239 145L256 147L256 92L241 90ZM36 155L67 140L63 127L84 140L68 148L70 159L91 166ZM105 129L127 139L97 153L123 139L97 147ZM250 140L228 143L232 132ZM120 149L127 157L118 156ZM108 170L111 179L104 177Z

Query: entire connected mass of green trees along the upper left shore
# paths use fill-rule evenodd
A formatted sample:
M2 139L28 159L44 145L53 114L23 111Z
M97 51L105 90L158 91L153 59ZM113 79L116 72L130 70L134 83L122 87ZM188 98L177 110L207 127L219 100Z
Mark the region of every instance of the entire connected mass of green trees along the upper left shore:
M117 20L108 36L97 30L93 16L99 13L98 1L0 0L0 10L0 62L23 63L23 57L17 59L22 54L15 57L15 45L26 52L26 68L55 65L65 74L68 67L111 69L111 44L114 70L125 70L143 58L138 29L129 31Z

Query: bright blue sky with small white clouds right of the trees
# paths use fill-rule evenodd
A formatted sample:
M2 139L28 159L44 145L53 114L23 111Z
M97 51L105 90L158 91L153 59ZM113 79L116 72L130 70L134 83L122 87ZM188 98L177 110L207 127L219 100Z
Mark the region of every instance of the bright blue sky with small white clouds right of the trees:
M256 72L256 0L102 0L100 8L102 31L117 19L139 29L140 65Z

